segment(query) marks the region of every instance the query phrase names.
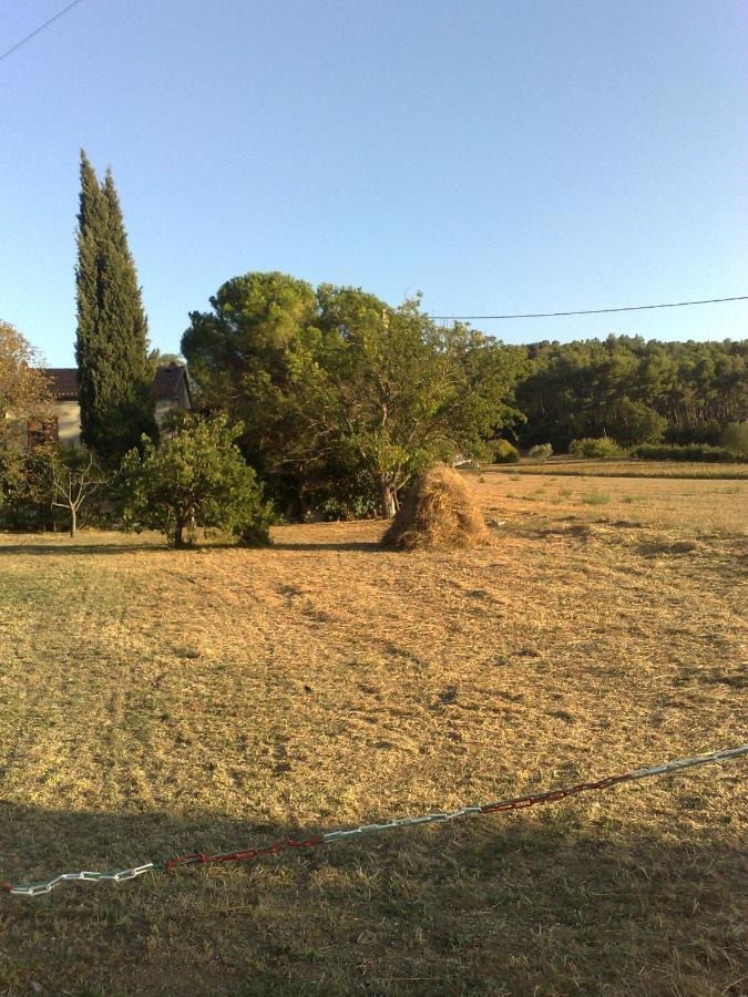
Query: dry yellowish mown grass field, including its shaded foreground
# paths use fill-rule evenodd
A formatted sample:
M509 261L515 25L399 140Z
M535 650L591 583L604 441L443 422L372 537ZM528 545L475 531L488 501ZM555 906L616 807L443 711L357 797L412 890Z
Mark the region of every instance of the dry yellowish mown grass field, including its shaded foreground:
M0 880L745 742L748 482L553 477L485 473L463 554L1 536ZM0 894L0 993L737 997L746 774Z

